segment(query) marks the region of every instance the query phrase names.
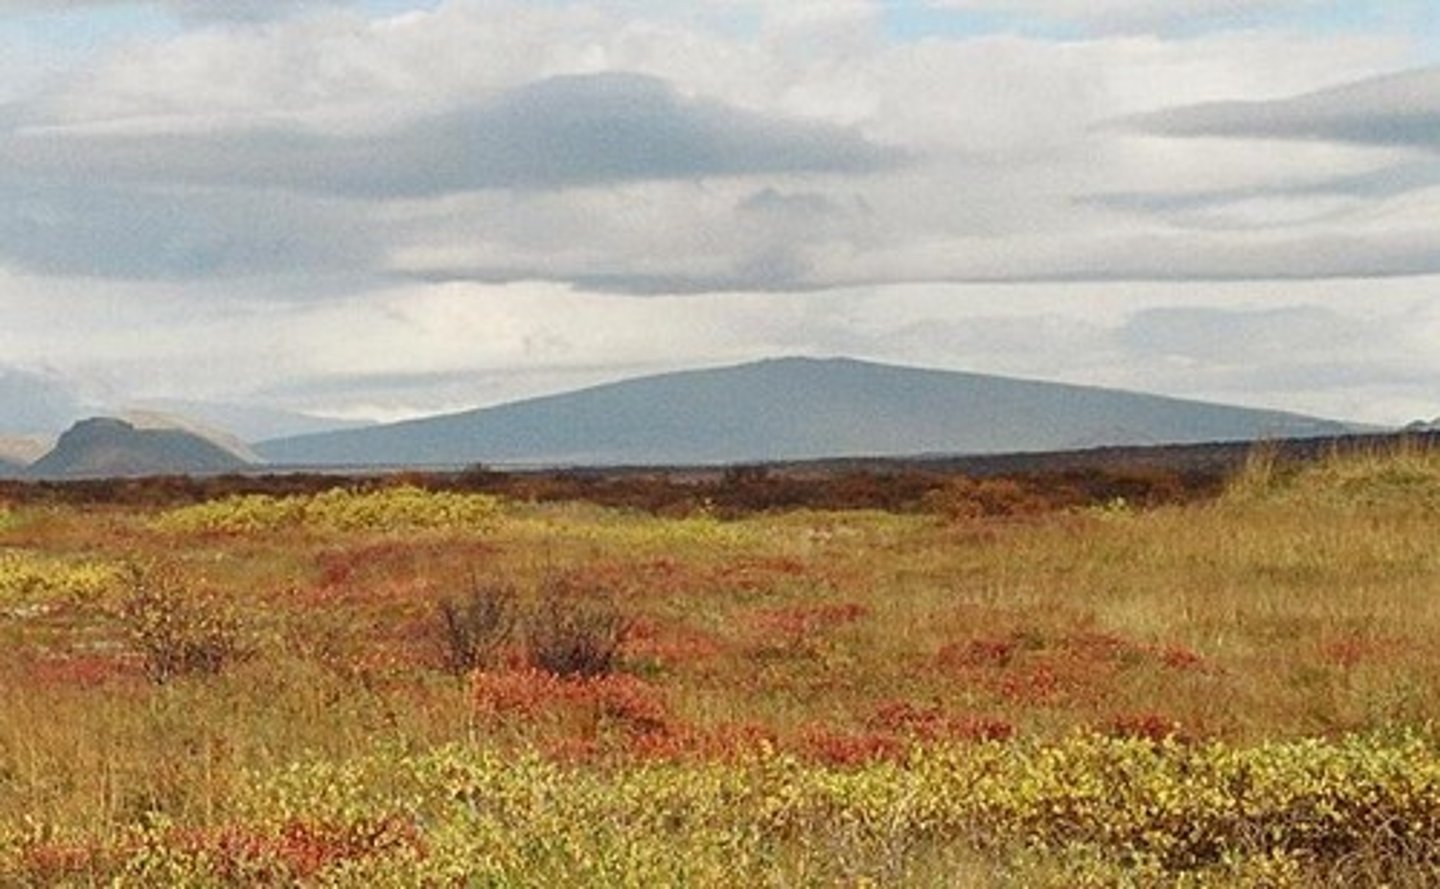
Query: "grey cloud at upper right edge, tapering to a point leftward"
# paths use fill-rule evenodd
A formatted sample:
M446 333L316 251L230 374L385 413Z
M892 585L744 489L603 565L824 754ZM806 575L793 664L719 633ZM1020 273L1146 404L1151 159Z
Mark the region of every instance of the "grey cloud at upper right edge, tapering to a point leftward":
M1153 135L1315 140L1440 151L1440 68L1289 99L1171 108L1128 118L1122 125Z

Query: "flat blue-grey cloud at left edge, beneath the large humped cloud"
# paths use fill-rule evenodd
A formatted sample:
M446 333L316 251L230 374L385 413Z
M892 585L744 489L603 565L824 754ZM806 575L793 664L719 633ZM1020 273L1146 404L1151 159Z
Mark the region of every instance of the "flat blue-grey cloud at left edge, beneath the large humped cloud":
M0 258L36 274L341 274L380 256L353 215L282 193L0 184Z

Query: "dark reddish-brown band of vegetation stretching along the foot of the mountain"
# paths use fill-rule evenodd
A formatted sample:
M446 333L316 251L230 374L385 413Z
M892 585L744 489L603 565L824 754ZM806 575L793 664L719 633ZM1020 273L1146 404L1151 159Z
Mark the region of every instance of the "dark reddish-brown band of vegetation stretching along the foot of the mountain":
M1276 465L1300 465L1332 454L1364 452L1407 442L1440 445L1440 432L1351 435L1266 442ZM353 473L272 471L219 475L154 475L68 481L0 480L0 500L12 503L183 506L235 494L315 494L344 487L374 490L412 484L426 490L490 493L536 501L589 501L661 516L710 511L737 517L770 510L874 509L932 511L956 484L1009 483L1014 509L1043 513L1123 499L1136 506L1189 503L1217 496L1243 470L1253 442L1096 448L1047 454L933 457L913 460L831 460L721 468L622 467L566 470L465 470ZM1002 490L984 486L991 500Z

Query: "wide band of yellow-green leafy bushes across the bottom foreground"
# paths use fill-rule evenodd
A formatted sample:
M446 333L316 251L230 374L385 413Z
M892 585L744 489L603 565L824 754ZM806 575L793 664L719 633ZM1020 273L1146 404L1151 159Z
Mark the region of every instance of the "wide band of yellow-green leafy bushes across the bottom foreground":
M596 768L451 746L245 787L230 833L131 837L109 867L203 883L271 856L281 882L505 886L953 885L956 867L988 875L976 885L1440 876L1440 754L1410 736L1234 748L1077 735L850 769L782 755ZM251 841L222 841L240 834ZM14 869L0 863L0 877Z

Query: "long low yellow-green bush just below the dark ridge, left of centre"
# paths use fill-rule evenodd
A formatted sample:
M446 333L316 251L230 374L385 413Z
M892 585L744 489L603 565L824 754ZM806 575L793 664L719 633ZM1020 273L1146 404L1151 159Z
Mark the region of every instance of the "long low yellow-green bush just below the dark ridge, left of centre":
M500 514L501 500L490 494L402 486L376 491L333 488L294 497L226 497L164 513L154 527L177 533L478 530L492 527Z

